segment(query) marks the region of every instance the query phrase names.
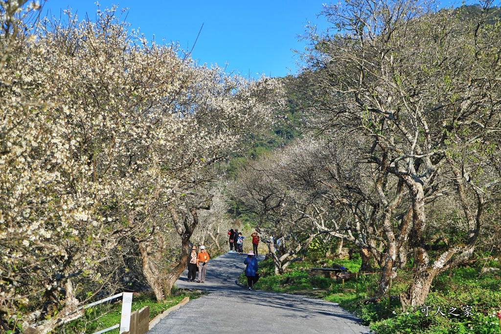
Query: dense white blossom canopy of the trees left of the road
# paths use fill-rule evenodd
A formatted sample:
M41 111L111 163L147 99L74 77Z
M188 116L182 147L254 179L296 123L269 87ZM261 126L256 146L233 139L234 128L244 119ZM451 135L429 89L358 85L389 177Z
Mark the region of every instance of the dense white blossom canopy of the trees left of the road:
M26 324L53 315L37 327L47 332L75 304L68 282L99 280L117 235L146 230L130 214L196 183L271 120L282 88L148 43L116 8L96 22L65 12L30 23L36 4L5 4L15 10L0 17L0 304Z

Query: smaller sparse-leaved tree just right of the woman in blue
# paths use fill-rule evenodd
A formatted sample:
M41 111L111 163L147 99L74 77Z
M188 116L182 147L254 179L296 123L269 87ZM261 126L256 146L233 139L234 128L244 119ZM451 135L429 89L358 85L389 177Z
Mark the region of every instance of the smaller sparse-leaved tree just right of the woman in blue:
M296 187L293 172L296 147L277 150L273 155L251 161L236 173L232 193L259 217L256 230L268 245L275 274L282 274L293 262L301 261L311 242L321 233L307 212L315 198Z

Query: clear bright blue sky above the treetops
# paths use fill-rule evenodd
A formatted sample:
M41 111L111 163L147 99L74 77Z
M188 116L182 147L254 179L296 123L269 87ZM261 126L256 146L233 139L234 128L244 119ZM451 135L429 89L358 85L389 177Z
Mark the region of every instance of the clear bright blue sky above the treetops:
M61 9L78 11L81 19L85 13L95 18L95 0L48 0L47 10L59 17ZM324 0L325 3L325 0ZM298 42L307 21L318 22L325 28L324 20L317 20L322 1L317 0L102 0L101 9L119 5L128 8L127 21L131 28L140 28L147 39L155 35L157 41L179 42L181 48L191 49L203 24L192 57L201 64L217 63L226 72L234 70L241 75L281 77L297 71L292 49L304 50Z

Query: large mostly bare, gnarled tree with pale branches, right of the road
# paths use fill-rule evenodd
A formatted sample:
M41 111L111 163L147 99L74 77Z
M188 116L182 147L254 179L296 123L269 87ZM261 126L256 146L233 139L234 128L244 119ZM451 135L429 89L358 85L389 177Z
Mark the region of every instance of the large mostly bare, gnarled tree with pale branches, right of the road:
M378 170L381 210L409 203L408 242L417 268L400 295L404 308L422 304L433 278L471 254L485 203L499 183L500 67L494 55L501 39L499 25L487 22L491 4L465 16L414 0L345 1L324 8L332 29L309 35L307 72L317 87L310 125L324 134L366 137L357 155ZM386 198L386 180L403 187L401 203ZM464 237L432 258L430 208L447 197L460 203L456 227ZM397 250L392 216L383 230L386 246ZM397 253L385 259L381 293Z

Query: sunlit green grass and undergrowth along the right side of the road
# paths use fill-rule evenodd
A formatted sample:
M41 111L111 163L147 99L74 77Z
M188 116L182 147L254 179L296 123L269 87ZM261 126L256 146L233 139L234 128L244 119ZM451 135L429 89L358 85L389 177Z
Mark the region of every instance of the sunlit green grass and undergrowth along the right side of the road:
M350 271L356 272L360 260L334 260ZM325 264L325 261L324 261ZM332 263L330 263L332 264ZM418 308L413 312L403 312L400 301L383 298L377 303L362 304L358 301L376 296L379 283L378 274L359 275L358 279L346 280L344 287L340 282L329 278L309 276L309 269L318 267L318 263L304 261L295 263L282 275L273 275L273 262L260 262L260 280L254 286L275 292L306 294L339 303L362 318L364 323L378 334L501 334L498 319L493 313L501 310L501 280L496 274L482 274L480 269L499 267L498 261L484 263L477 261L467 266L445 271L434 280L424 306L430 306L428 316ZM377 271L377 270L376 270ZM414 271L399 271L393 280L391 295L398 295L406 290L412 281ZM497 272L497 275L500 275ZM246 284L242 274L239 282ZM471 306L471 314L464 316L464 305ZM434 315L438 306L446 315ZM456 307L460 316L447 314L450 307Z

